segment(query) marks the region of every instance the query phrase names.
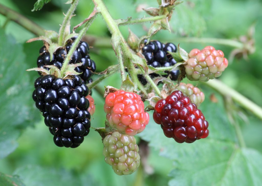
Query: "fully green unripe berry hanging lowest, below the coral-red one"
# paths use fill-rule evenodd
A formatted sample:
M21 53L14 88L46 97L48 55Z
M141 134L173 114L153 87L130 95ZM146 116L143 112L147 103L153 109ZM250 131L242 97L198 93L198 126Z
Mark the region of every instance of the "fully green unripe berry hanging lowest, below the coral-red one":
M132 174L140 165L138 145L133 136L118 131L108 134L103 140L103 155L117 175Z

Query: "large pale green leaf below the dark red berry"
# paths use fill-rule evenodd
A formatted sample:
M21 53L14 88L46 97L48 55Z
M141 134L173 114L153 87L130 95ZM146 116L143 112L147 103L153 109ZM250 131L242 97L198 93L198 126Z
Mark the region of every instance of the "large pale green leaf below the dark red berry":
M205 94L214 93L211 89ZM160 125L147 125L142 139L160 150L160 155L170 159L174 169L169 185L261 185L262 155L252 149L239 147L234 128L226 117L221 96L219 103L205 100L200 109L209 122L210 134L194 143L176 143L167 138Z

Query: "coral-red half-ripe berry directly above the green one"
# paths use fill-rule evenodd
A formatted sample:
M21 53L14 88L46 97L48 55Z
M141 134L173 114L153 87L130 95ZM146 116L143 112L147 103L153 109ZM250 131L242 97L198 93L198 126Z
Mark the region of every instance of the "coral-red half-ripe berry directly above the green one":
M104 111L112 128L121 134L134 136L142 132L149 122L149 114L144 111L140 95L122 90L106 96Z

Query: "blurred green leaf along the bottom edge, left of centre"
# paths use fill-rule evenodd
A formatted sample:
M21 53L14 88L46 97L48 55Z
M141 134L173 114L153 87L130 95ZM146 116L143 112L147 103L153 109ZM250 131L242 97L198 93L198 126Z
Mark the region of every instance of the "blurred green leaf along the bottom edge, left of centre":
M35 165L20 167L14 174L19 175L25 185L91 185L90 182L81 183L79 177L71 171L63 169L43 168ZM87 176L88 177L88 176Z

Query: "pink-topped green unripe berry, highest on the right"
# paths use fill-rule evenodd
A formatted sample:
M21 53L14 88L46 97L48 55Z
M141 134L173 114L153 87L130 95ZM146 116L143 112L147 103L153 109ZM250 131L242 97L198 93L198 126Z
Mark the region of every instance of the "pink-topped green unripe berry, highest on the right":
M193 49L185 65L185 72L190 81L208 81L221 76L228 61L221 50L206 46L203 50Z

